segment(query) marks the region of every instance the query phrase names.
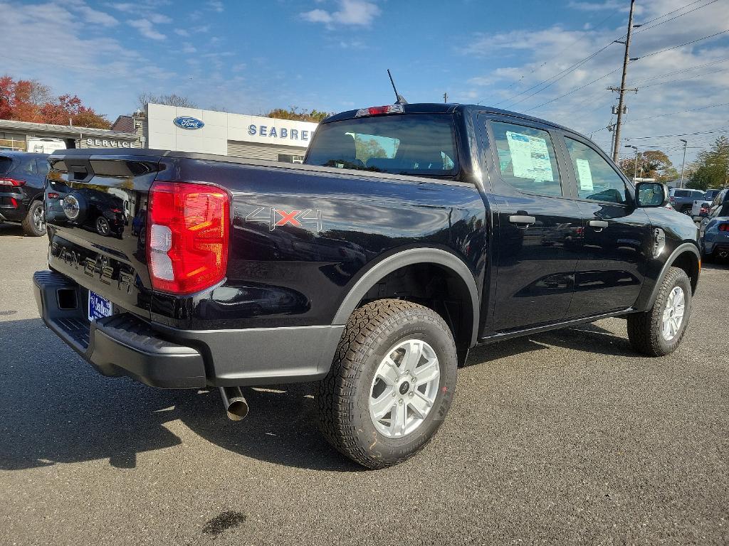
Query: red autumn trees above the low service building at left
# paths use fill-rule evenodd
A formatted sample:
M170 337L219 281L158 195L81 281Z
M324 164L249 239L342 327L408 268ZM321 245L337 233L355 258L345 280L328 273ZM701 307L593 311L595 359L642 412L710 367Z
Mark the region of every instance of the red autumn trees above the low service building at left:
M77 95L53 98L50 87L34 79L0 78L0 119L108 129L106 116L84 106Z

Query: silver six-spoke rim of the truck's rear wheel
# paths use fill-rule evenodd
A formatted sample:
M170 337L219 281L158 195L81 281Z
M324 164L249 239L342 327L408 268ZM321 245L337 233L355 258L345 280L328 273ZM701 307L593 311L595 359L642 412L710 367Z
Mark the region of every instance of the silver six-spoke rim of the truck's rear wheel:
M387 438L402 438L425 421L440 384L440 362L421 339L391 347L370 387L370 417Z

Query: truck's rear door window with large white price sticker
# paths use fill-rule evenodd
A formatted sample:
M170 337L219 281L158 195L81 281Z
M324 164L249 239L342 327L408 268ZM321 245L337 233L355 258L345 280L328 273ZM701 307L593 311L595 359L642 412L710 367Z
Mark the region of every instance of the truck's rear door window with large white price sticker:
M561 195L554 145L547 131L491 122L499 170L512 188L542 195Z

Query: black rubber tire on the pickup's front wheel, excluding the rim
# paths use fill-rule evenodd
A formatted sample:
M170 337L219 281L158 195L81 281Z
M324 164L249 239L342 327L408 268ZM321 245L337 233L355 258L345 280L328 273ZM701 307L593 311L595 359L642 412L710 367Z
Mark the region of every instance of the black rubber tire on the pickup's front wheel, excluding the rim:
M685 298L684 315L679 330L673 339L663 337L663 311L671 290L679 287ZM644 313L628 315L628 339L631 347L649 357L670 355L681 343L686 333L686 325L691 316L691 281L683 269L671 267L660 283L658 296L651 309Z

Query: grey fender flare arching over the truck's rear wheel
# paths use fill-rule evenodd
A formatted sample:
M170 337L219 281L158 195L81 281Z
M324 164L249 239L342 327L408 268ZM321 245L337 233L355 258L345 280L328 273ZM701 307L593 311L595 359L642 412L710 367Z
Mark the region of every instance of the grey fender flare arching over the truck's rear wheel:
M334 320L332 320L332 324L346 324L349 316L354 312L357 304L362 301L362 298L364 298L364 295L370 288L388 274L397 271L397 269L414 264L437 264L443 266L445 269L449 269L453 274L456 274L456 276L463 280L471 298L473 323L469 347L473 347L477 341L478 312L480 309L476 280L471 270L461 258L438 248L410 248L408 250L402 250L371 266L362 277L356 280L352 288L348 291L335 314Z

